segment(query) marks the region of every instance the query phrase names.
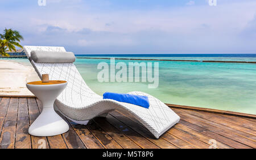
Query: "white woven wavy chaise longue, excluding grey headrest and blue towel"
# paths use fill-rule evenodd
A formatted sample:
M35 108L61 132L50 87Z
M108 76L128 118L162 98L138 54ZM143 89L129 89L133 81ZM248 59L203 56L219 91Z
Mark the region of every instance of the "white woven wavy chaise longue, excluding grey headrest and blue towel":
M42 79L42 74L47 73L50 80L68 82L67 88L55 101L55 110L75 123L86 125L96 116L106 116L111 111L118 110L123 114L133 115L158 139L180 120L180 117L170 107L149 94L129 92L129 94L147 96L150 102L149 109L130 103L103 100L102 96L94 93L86 85L73 63L35 63L30 58L31 51L65 52L64 47L24 46L24 51L40 79Z

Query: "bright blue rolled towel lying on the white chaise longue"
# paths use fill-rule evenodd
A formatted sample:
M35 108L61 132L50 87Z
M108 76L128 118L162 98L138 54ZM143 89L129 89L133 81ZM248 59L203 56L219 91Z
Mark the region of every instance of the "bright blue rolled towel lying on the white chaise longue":
M148 109L149 101L147 96L138 96L133 94L118 94L106 92L103 94L103 99L111 99L118 102L131 103Z

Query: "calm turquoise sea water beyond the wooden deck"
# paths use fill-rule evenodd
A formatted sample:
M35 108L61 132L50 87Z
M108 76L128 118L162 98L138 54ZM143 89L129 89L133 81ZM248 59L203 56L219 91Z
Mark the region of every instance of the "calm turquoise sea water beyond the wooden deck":
M79 55L78 57L122 57L150 59L255 61L256 54L168 54L168 55ZM27 60L27 59L26 59ZM26 62L24 59L16 61ZM147 60L136 60L148 62ZM256 64L159 62L159 87L147 83L100 83L97 65L108 59L77 59L77 66L89 87L98 94L139 90L166 103L256 114ZM115 60L135 62L135 60Z

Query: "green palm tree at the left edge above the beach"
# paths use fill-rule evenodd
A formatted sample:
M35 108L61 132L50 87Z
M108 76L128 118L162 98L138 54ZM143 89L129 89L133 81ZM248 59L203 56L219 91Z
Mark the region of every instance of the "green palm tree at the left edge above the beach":
M23 48L19 44L20 40L23 40L23 36L20 35L18 31L13 31L12 29L6 29L3 34L0 34L0 54L3 56L9 56L6 51L16 51L16 47ZM8 50L7 50L8 49Z

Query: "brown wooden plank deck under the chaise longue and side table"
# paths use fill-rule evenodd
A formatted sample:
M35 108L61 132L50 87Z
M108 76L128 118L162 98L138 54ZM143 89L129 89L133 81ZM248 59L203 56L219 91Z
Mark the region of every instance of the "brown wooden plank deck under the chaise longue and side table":
M70 125L67 133L35 137L28 135L28 127L42 111L40 101L0 97L0 148L256 148L256 119L173 110L181 120L158 140L130 115L117 111L87 126L64 118Z

